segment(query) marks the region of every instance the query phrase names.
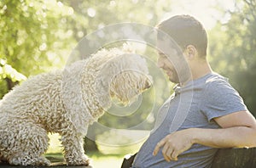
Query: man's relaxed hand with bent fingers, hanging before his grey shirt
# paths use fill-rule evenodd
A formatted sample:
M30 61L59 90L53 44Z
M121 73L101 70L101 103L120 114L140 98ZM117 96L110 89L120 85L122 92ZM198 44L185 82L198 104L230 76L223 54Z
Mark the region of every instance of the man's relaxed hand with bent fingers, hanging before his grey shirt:
M177 160L177 156L191 148L193 143L192 129L173 132L156 144L153 155L163 147L162 154L166 161Z

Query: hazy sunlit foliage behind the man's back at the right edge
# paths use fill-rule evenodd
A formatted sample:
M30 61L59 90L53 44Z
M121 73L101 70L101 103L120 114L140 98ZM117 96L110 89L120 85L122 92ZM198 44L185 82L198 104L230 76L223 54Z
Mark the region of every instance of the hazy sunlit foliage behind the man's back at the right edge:
M248 109L256 115L254 82L256 81L256 1L236 3L233 11L210 33L210 53L214 68L240 92Z

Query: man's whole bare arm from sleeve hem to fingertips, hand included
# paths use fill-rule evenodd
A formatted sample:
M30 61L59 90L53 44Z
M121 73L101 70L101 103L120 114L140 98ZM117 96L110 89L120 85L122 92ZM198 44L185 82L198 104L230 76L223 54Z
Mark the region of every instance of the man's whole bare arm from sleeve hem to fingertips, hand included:
M155 145L153 154L162 148L166 161L177 156L195 143L213 148L256 147L256 120L248 111L238 111L214 119L220 129L189 128L172 132Z

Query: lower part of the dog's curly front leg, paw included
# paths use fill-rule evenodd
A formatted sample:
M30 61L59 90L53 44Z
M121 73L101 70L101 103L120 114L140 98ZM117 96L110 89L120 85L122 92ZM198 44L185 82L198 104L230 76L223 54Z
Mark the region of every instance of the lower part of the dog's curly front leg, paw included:
M89 165L90 160L84 154L84 141L81 134L76 134L73 131L62 132L61 142L67 165Z

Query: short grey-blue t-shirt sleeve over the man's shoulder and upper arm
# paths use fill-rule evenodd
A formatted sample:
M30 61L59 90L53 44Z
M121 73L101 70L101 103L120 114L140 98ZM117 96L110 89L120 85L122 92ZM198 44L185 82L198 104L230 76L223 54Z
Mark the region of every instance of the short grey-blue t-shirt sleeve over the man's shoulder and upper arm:
M241 110L247 110L247 107L228 81L218 79L207 82L202 95L201 111L207 116L208 121Z

